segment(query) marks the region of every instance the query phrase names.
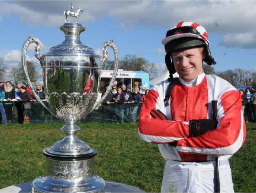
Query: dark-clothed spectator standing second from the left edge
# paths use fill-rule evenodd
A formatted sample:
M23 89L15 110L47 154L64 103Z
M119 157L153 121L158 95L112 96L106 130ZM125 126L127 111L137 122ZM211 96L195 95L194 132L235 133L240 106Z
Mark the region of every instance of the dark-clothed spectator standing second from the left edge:
M15 91L11 85L10 81L5 82L4 86L5 90L5 99L7 102L4 102L4 109L5 109L5 114L7 118L7 122L11 123L12 122L12 99L15 98Z

